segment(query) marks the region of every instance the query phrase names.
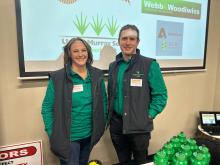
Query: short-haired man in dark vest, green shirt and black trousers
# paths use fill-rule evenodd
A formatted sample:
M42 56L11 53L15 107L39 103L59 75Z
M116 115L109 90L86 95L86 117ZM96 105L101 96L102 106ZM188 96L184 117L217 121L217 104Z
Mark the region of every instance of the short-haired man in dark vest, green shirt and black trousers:
M119 162L146 163L153 119L164 109L167 89L156 60L140 55L139 30L119 32L121 53L109 66L110 134ZM132 165L134 164L131 163Z

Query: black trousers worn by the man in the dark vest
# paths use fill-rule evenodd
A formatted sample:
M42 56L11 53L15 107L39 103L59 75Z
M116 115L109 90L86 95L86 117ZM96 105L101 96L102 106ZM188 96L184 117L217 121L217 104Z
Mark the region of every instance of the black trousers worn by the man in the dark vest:
M110 134L120 163L127 164L133 157L137 164L147 162L150 133L123 134L122 117L116 112L110 121Z

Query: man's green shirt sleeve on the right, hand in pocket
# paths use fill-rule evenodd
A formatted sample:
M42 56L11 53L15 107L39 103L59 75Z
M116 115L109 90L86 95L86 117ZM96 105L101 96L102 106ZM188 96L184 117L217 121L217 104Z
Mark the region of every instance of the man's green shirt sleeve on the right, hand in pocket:
M150 65L148 82L151 91L151 102L148 107L149 117L155 118L163 111L167 103L167 88L160 70L160 66L156 61L153 61Z

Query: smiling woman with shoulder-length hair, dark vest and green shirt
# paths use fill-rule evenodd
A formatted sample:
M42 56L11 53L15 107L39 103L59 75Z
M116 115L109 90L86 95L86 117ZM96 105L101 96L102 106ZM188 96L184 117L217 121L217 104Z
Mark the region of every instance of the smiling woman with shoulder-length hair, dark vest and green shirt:
M92 62L89 44L73 38L64 47L65 67L50 74L42 116L61 165L87 165L105 130L105 84L102 71Z

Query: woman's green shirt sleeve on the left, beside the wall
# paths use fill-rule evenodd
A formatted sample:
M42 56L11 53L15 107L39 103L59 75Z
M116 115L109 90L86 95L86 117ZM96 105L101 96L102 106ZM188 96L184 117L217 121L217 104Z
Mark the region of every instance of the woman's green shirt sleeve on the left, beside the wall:
M46 94L42 103L41 114L43 117L45 131L47 132L48 136L50 137L52 134L53 128L53 107L54 107L54 84L53 81L50 79L48 82Z

